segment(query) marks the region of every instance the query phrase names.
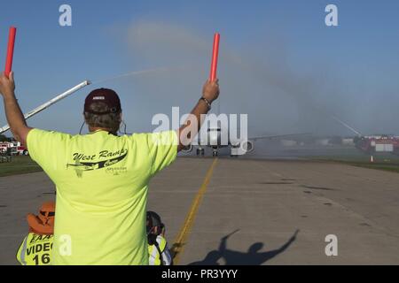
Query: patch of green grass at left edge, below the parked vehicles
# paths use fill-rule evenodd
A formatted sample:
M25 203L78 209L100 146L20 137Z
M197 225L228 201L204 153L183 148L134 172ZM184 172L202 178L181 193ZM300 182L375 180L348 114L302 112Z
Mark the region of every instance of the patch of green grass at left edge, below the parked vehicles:
M0 163L0 177L40 171L42 168L30 157L12 157L12 162Z

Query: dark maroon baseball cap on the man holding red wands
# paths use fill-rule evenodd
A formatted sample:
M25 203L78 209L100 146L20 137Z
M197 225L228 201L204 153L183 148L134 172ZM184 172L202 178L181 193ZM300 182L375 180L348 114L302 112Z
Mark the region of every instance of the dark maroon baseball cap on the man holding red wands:
M90 110L90 105L92 103L106 103L109 111L98 112ZM110 113L118 113L121 112L121 100L119 96L112 89L109 88L98 88L94 89L90 92L89 96L86 97L84 101L84 111L95 114L95 115L104 115Z

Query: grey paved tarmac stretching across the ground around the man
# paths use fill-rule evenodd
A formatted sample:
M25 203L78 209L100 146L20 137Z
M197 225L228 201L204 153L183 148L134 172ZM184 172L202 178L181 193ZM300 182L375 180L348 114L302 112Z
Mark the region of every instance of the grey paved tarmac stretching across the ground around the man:
M347 164L179 157L151 181L148 209L175 264L399 264L398 184ZM26 214L53 198L43 172L0 178L0 264L18 264Z

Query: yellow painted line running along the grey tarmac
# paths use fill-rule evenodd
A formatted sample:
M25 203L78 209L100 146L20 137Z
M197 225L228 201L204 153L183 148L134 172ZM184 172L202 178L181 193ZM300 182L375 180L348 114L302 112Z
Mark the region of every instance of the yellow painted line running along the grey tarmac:
M179 264L180 256L184 252L184 246L186 245L188 236L192 230L192 226L194 224L194 220L197 215L197 212L200 208L202 198L205 195L205 193L207 192L207 185L209 184L209 182L212 178L215 166L217 164L217 160L218 159L215 158L214 162L211 164L211 166L207 170L207 175L205 175L205 179L202 182L200 190L198 191L197 195L195 195L195 198L192 201L192 206L190 208L190 211L184 220L184 225L180 229L180 232L177 233L175 243L172 248L173 264L176 264L176 265Z

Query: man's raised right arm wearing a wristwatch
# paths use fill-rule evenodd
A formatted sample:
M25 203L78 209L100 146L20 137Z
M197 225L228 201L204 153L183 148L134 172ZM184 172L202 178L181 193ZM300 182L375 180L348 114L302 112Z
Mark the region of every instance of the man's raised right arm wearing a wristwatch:
M190 117L178 130L179 145L177 151L184 149L192 143L192 139L200 131L200 127L210 110L210 104L219 96L219 80L205 82L202 88L202 97L192 110Z

